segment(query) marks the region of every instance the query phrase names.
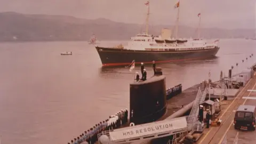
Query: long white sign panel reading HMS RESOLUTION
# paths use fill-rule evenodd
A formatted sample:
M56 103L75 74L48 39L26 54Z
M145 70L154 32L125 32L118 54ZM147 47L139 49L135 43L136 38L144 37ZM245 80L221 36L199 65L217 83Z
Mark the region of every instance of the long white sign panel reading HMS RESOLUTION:
M185 129L187 121L185 117L125 127L109 132L110 140L124 140L130 138L144 137L150 134L171 132L172 130Z

